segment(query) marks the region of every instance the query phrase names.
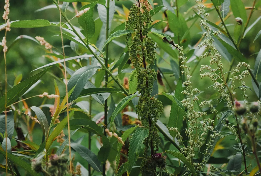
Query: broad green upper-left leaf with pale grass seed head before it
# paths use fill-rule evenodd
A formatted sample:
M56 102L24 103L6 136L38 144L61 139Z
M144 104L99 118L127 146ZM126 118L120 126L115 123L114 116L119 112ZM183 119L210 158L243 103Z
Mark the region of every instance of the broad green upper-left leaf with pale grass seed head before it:
M81 33L86 37L87 40L91 39L91 37L95 33L95 24L92 17L93 17L93 9L97 3L98 1L84 5L80 8L80 10L83 10L85 8L90 8L86 13L82 14L78 18L78 22L82 27Z

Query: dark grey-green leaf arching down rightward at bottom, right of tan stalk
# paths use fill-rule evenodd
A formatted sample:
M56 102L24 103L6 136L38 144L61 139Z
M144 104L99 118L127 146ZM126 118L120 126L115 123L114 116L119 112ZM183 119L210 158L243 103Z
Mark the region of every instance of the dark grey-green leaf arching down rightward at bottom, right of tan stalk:
M85 159L91 167L97 171L102 172L101 163L97 156L88 148L82 146L81 144L72 143L71 147L77 152L83 159Z

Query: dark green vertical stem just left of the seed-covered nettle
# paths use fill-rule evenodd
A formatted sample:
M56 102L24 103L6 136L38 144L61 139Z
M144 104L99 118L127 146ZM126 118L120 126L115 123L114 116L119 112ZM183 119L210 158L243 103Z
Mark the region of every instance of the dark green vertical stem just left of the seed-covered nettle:
M110 0L107 0L106 7L106 40L109 38L109 15L110 15ZM105 68L108 69L108 54L109 54L109 43L106 45L106 55L105 55ZM105 72L105 87L108 86L108 72ZM107 136L105 129L107 128L107 111L108 111L108 99L104 102L104 136ZM102 165L102 175L106 176L106 162Z

